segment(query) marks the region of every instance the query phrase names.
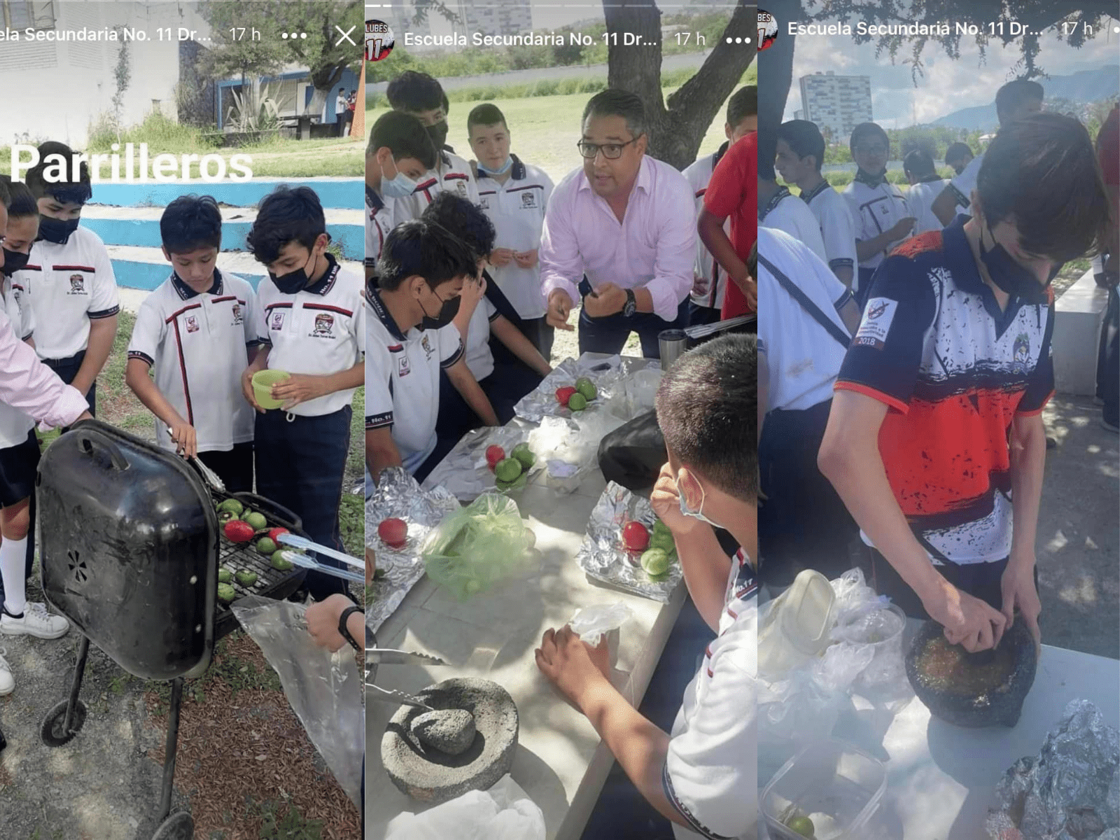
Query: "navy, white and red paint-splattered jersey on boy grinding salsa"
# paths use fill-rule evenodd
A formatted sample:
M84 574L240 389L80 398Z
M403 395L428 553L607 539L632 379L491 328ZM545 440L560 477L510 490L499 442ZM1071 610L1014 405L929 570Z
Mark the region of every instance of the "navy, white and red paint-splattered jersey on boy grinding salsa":
M884 261L836 384L887 404L890 488L930 556L955 563L1010 553L1011 420L1040 413L1054 392L1053 295L1000 310L965 221Z

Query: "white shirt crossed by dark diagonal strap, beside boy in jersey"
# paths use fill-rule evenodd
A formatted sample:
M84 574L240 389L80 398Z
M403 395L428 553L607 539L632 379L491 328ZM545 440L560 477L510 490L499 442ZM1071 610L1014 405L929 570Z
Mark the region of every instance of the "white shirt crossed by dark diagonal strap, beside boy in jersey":
M849 335L839 309L851 299L851 290L816 254L792 236L769 227L758 228L758 253ZM759 260L758 353L765 356L769 380L766 411L803 411L831 400L846 349Z

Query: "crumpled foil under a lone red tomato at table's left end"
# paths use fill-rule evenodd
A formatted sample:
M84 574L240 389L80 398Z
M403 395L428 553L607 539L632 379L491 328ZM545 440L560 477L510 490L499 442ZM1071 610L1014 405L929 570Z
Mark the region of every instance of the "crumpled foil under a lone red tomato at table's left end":
M367 589L365 623L370 629L376 632L423 577L420 547L428 532L458 507L459 501L447 489L421 489L401 467L382 472L381 483L365 503L365 545L376 552L377 569L384 570ZM377 525L391 516L409 525L408 541L400 549L390 548L377 536Z

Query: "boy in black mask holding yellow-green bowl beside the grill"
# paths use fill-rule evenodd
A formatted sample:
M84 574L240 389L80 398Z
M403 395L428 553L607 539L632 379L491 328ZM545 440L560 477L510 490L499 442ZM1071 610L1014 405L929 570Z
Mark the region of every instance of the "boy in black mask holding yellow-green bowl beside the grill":
M329 242L323 205L310 187L281 184L261 202L245 243L269 272L256 290L263 346L241 388L259 412L256 492L299 516L311 540L343 551L338 511L351 401L363 381L365 308L362 278L338 264ZM253 374L268 368L291 374L272 385L272 398L283 403L274 411L264 411L253 395ZM307 586L323 600L344 591L345 581L312 571Z

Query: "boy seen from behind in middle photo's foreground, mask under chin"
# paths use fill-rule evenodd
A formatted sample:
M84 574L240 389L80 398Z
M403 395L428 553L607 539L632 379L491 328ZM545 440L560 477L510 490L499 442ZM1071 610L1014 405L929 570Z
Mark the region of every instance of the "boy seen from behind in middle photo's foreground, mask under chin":
M758 830L757 368L754 336L727 335L682 355L657 389L669 463L650 501L673 533L689 594L716 634L672 731L610 684L605 642L589 647L563 627L545 631L536 650L538 668L587 716L679 840L753 840ZM734 558L712 525L743 547ZM627 836L645 810L634 795L619 799L604 814L612 824L597 827L596 836Z

